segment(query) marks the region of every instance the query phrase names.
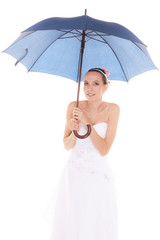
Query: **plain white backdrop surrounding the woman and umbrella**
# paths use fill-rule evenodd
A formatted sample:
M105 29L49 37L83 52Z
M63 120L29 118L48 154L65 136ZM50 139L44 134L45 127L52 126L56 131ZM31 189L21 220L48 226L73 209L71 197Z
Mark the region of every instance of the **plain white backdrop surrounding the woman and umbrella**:
M160 69L158 0L6 0L0 5L0 51L40 20L80 16L87 8L89 16L136 34ZM66 107L76 100L77 85L53 75L27 74L14 63L0 55L0 239L49 240L51 208L69 154L62 141ZM81 90L84 99L83 83ZM109 153L118 191L119 240L160 239L159 91L160 74L150 71L129 84L112 81L103 99L121 108Z

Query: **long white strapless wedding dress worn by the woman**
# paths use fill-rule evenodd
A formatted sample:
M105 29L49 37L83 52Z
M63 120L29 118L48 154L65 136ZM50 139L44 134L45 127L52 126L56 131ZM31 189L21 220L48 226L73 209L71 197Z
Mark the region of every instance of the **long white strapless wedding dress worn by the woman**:
M107 123L93 127L105 138ZM79 134L86 133L81 124ZM76 138L59 183L51 240L117 240L117 202L107 156Z

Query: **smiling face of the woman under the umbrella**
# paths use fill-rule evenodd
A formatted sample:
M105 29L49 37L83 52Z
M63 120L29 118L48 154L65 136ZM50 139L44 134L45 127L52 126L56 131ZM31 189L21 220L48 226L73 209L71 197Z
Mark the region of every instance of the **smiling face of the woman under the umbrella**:
M102 99L108 84L103 83L102 74L99 72L88 72L84 77L84 93L89 101Z

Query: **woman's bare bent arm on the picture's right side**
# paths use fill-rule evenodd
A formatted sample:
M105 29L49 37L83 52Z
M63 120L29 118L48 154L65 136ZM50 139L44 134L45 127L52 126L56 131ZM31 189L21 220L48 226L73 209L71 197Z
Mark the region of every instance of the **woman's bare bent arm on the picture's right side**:
M90 138L92 140L92 143L94 144L94 146L97 148L97 150L102 156L105 156L109 152L113 144L113 141L115 139L119 113L120 113L119 106L117 104L112 104L109 109L108 128L107 128L105 139L101 138L97 134L95 129L92 127Z

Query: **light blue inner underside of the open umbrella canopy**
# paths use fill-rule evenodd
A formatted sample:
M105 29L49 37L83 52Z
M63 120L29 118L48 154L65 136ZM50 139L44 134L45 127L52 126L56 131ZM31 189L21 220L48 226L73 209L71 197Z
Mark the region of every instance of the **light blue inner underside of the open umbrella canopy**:
M111 80L121 81L155 69L144 45L90 30L85 34L82 79L92 67L105 67L111 72ZM25 56L20 62L28 71L77 81L81 30L42 30L22 35L6 53L16 59Z

